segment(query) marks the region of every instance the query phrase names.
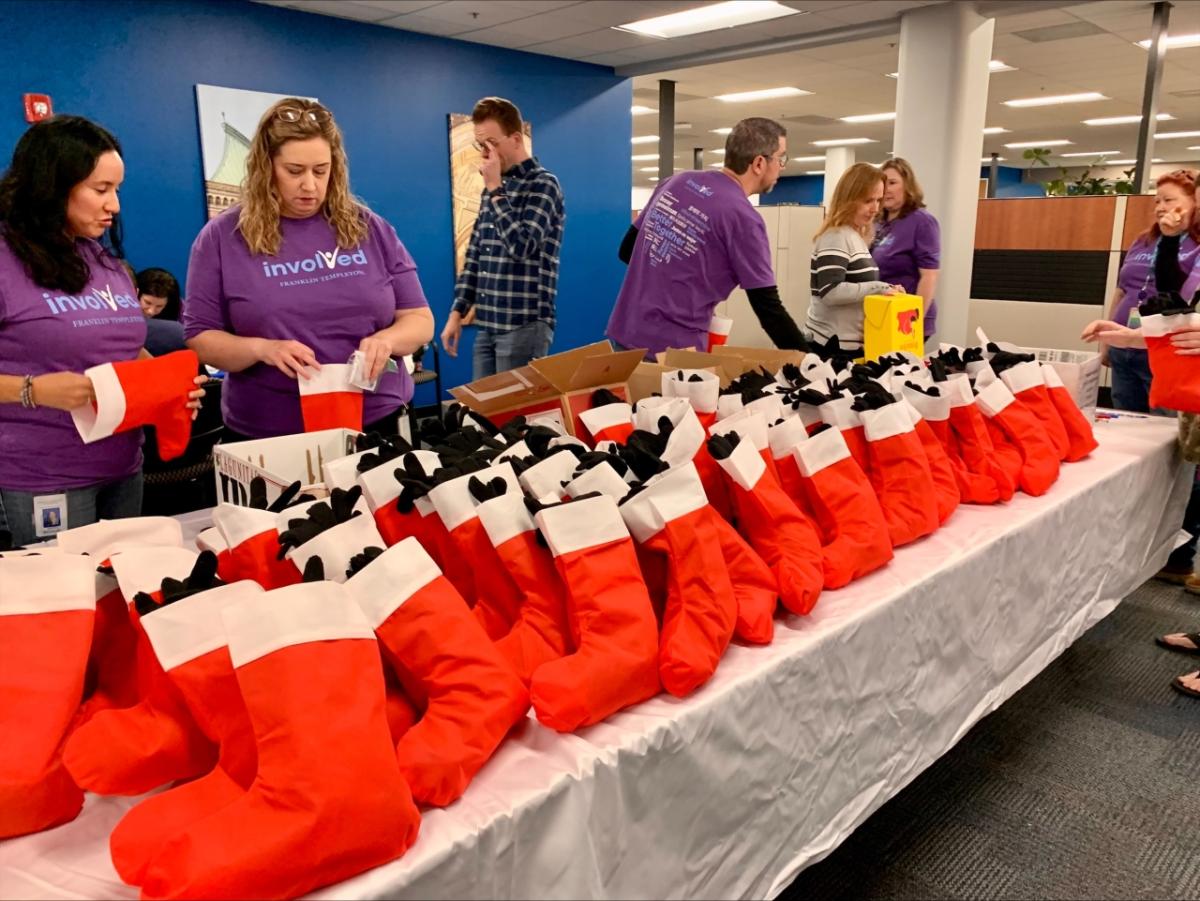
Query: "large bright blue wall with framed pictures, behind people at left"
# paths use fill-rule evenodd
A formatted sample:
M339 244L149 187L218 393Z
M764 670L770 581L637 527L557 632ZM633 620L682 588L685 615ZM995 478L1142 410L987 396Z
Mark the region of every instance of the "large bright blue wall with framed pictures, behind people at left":
M416 259L439 331L454 292L446 114L514 100L566 198L556 349L602 337L630 197L631 86L611 68L240 0L4 0L0 34L0 167L26 127L24 92L103 124L125 148L130 262L180 280L205 221L194 85L319 97L346 133L352 187ZM468 341L443 354L448 386L470 378Z

